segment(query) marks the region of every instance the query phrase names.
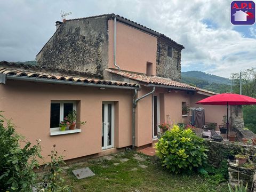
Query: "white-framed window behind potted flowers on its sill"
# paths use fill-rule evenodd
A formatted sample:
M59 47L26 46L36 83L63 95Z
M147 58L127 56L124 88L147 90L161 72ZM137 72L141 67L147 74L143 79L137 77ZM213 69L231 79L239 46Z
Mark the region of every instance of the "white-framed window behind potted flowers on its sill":
M50 128L57 128L63 119L76 110L76 101L51 101Z

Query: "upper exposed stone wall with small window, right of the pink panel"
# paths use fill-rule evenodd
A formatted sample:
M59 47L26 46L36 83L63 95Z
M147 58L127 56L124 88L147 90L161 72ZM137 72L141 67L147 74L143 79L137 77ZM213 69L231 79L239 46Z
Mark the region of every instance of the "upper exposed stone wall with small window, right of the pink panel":
M167 56L167 45L172 47L172 57ZM162 38L157 39L156 75L171 78L174 81L181 79L181 50Z

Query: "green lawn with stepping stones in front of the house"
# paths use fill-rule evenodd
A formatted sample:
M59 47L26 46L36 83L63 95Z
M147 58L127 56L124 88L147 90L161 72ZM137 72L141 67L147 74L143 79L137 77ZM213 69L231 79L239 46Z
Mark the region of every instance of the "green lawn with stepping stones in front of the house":
M134 159L134 155L144 158L145 161ZM65 185L73 186L73 191L228 191L225 183L216 185L202 175L167 172L163 170L157 157L134 151L113 154L111 157L111 160L101 157L70 165L63 172ZM129 161L120 162L123 158ZM139 165L147 167L143 169ZM87 166L95 176L77 180L71 171ZM132 170L134 168L136 169Z

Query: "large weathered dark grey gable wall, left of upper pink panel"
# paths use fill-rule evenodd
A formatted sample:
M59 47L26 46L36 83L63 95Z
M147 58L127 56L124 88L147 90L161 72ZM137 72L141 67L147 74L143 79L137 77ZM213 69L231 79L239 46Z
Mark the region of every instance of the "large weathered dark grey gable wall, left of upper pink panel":
M103 75L108 66L108 17L67 20L37 55L39 66Z

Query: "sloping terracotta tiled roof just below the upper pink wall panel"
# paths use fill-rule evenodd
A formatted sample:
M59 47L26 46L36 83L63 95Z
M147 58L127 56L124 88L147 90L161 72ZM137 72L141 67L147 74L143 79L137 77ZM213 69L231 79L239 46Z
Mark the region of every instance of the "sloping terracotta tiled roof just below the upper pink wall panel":
M172 81L172 79L169 79L169 78L135 74L135 73L126 72L126 71L118 71L116 69L106 69L106 70L109 71L110 73L121 75L123 77L127 77L127 78L133 79L135 81L139 81L139 82L146 83L146 84L164 85L164 86L170 86L170 88L171 87L180 87L180 88L186 88L186 89L191 89L191 90L197 89L194 86L190 86L185 83Z

